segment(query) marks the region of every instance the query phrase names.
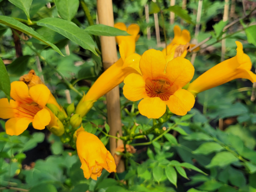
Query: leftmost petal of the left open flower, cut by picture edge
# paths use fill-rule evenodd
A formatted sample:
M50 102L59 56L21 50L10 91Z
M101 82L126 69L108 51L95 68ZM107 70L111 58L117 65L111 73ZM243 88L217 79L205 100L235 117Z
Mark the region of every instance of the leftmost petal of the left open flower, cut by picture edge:
M17 102L11 99L9 103L7 98L0 99L0 118L10 119L15 117L15 113L17 113Z

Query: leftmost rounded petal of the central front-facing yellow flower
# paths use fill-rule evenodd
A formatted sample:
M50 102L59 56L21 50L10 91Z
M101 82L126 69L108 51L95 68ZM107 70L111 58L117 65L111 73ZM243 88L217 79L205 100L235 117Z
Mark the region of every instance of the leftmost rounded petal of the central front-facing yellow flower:
M130 101L138 101L146 96L145 81L142 76L131 73L124 80L124 96Z

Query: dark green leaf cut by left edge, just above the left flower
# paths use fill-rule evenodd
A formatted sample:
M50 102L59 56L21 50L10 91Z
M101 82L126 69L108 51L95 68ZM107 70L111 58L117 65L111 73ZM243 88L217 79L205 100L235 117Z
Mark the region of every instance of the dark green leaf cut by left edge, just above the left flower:
M0 58L0 74L0 90L3 91L8 101L10 101L11 82L2 58Z

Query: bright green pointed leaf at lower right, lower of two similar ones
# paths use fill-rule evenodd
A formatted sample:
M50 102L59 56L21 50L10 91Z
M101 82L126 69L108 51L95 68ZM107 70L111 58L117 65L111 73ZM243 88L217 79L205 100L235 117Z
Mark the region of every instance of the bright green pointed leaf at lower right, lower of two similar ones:
M211 163L207 165L207 168L219 166L224 167L229 165L230 163L234 163L238 161L238 158L230 153L229 151L222 151L217 153L211 160Z

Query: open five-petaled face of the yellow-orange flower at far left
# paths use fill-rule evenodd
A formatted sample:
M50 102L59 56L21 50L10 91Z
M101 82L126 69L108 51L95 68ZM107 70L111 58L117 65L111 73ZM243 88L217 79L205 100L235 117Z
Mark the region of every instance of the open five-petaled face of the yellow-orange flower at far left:
M29 89L23 81L11 83L10 104L6 98L0 99L0 118L9 119L6 122L6 133L20 135L28 128L29 123L35 129L42 130L49 124L51 116L45 108L50 96L50 90L43 84Z

